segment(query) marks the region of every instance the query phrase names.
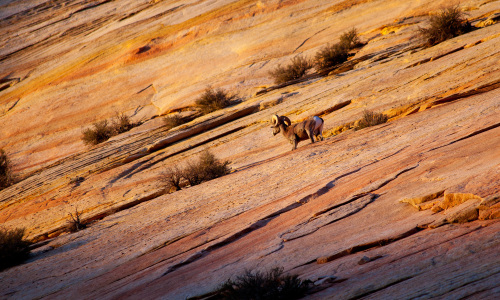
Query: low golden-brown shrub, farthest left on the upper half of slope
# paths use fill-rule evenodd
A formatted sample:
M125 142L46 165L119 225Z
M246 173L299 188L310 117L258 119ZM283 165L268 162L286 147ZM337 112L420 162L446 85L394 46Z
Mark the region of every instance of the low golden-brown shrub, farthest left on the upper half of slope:
M107 141L112 136L129 131L139 124L132 123L130 118L125 114L117 114L111 120L111 125L108 120L102 120L92 124L91 128L82 131L82 141L85 145L97 145Z

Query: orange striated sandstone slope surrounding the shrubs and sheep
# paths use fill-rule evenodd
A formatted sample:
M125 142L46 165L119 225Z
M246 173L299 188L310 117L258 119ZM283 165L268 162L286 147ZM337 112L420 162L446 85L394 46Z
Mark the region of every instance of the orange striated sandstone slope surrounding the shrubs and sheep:
M445 3L5 1L0 148L18 182L0 223L37 243L0 298L206 298L276 266L310 299L498 298L500 1L461 1L474 30L424 48ZM348 62L273 86L352 27ZM241 102L167 130L207 85ZM354 130L365 110L389 122ZM117 112L143 124L86 148ZM325 140L290 151L272 114L319 115ZM232 172L169 190L205 149ZM69 233L75 210L88 227Z

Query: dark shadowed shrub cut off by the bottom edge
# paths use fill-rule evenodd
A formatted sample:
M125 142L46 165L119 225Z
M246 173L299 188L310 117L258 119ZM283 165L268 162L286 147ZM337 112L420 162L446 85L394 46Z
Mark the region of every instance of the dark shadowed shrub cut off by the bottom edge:
M283 268L266 273L246 271L236 280L228 280L219 289L222 299L299 299L305 296L309 285L297 275L283 275Z

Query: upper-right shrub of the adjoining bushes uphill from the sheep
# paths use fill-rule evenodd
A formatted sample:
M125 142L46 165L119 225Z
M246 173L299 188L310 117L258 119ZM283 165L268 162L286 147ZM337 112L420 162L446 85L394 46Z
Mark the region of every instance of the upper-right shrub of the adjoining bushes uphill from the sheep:
M340 42L326 45L316 53L314 64L319 72L329 70L339 65L349 57L349 51L361 45L355 28L343 33Z

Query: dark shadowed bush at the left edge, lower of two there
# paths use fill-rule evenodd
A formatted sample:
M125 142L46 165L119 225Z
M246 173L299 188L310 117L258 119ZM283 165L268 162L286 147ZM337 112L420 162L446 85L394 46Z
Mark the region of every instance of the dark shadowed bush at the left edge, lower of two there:
M29 257L31 243L23 236L24 228L0 228L0 270L20 264Z

